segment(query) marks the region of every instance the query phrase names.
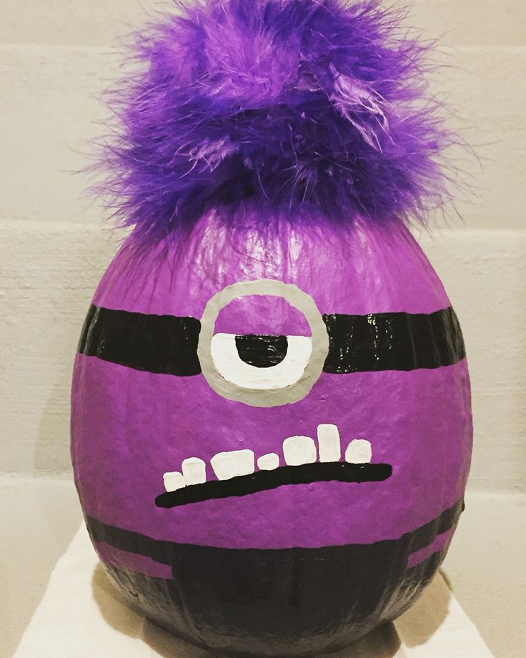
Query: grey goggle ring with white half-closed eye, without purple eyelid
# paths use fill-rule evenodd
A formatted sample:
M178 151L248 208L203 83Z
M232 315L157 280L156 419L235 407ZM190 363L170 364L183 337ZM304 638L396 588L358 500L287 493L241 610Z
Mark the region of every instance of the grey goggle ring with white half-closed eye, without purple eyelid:
M300 311L311 336L214 334L219 312L244 296L282 297ZM314 299L274 279L242 281L209 300L201 319L197 354L216 393L252 407L277 407L303 399L322 374L329 352L327 328Z

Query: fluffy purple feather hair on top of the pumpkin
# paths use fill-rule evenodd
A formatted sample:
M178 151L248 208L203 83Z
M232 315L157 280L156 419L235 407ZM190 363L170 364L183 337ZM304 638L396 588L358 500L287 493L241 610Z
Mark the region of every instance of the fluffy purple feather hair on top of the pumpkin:
M425 221L449 200L454 136L403 16L379 0L194 0L139 31L98 188L120 224L144 243L217 209Z

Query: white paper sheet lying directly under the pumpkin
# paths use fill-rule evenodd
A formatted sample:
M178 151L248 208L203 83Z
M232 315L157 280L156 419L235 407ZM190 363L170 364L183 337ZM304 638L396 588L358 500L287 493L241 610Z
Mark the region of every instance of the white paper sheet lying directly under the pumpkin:
M394 624L334 658L493 658L439 574ZM14 658L211 658L126 606L81 525Z

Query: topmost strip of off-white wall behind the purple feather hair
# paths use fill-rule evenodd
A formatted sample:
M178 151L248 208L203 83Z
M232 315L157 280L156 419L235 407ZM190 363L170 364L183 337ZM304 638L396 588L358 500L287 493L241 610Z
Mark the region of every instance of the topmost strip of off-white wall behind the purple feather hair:
M525 45L522 0L407 0L397 5L412 7L408 24L449 45ZM0 43L106 47L129 25L173 6L171 0L2 0Z

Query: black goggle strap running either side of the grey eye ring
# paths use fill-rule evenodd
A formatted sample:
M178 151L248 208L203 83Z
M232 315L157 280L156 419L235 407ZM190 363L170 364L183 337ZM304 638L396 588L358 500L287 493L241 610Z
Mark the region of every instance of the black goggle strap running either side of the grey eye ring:
M435 369L465 358L462 332L451 306L430 314L330 314L323 319L329 334L324 372ZM135 370L191 377L201 372L200 330L201 322L192 317L91 306L78 351Z

